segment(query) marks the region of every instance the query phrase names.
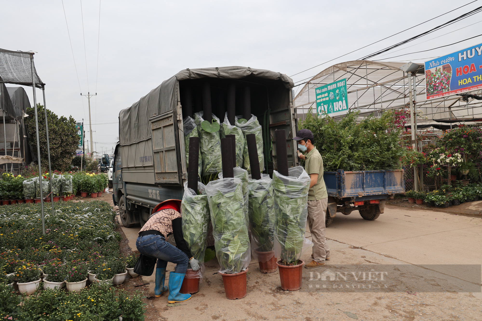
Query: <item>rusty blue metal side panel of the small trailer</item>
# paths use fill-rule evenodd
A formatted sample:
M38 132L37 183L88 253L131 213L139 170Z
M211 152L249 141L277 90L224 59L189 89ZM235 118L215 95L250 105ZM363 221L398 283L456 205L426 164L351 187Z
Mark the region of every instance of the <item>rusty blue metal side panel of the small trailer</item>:
M403 193L403 170L324 172L328 196L340 199Z

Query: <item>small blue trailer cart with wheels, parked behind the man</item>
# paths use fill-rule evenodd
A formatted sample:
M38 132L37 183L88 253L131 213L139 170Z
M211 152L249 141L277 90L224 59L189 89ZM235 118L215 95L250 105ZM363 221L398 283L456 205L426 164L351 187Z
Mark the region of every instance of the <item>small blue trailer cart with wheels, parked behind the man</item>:
M358 210L363 219L373 221L385 210L385 202L395 193L405 192L403 170L324 172L328 192L325 224L336 213L348 215Z

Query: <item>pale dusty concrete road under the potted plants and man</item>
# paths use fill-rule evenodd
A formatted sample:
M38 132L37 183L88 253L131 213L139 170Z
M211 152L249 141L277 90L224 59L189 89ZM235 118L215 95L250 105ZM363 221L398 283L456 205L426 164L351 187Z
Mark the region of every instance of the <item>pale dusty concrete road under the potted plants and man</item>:
M138 228L123 230L135 249ZM246 297L228 300L214 259L190 300L167 307L167 296L153 299L159 320L482 320L480 217L388 205L375 221L363 220L357 211L337 214L326 235L331 260L325 267L304 268L301 290L282 291L278 271L263 274L252 260ZM302 259L309 262L310 254ZM323 283L317 272L364 268L386 270L387 282L394 283L360 292L336 274L334 282L323 281L328 288L316 287ZM153 285L154 278L144 281ZM334 289L336 284L341 286Z

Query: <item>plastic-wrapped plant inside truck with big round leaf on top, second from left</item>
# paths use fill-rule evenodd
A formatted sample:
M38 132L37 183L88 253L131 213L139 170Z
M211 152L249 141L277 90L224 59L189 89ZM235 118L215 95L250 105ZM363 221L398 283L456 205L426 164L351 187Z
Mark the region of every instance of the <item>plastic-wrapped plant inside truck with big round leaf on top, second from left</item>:
M202 157L202 175L217 174L221 171L221 138L219 131L208 133L201 127L203 112L200 111L194 114L194 121L198 126L199 134L199 149ZM219 123L219 118L213 115L213 119Z

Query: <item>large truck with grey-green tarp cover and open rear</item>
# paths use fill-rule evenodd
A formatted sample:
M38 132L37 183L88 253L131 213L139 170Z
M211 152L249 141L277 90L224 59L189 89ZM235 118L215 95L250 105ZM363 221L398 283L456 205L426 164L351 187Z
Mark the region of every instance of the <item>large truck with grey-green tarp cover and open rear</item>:
M211 102L205 99L206 83ZM256 139L256 143L263 145L259 149L264 157L260 163L263 173L271 174L277 168L275 145L279 142L274 140L277 129L286 130L286 141L282 143L287 144L288 166L299 165L292 140L297 132L292 88L291 78L269 70L184 69L131 107L122 109L112 177L113 201L119 206L122 224L142 226L161 201L182 200L187 180L183 122L208 104L213 118L217 116L221 123L227 114L226 106L235 108L236 115L242 115L245 106L251 107L251 114L262 128L259 135L262 142Z

